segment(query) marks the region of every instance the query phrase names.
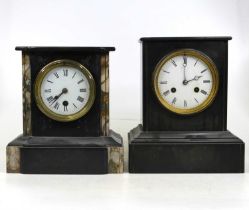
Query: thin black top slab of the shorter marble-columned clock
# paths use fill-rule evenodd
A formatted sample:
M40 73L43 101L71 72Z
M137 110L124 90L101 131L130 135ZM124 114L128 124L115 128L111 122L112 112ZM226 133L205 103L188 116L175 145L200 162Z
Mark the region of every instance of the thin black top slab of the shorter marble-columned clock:
M41 47L41 46L17 46L16 50L24 52L95 52L107 53L115 51L115 47Z

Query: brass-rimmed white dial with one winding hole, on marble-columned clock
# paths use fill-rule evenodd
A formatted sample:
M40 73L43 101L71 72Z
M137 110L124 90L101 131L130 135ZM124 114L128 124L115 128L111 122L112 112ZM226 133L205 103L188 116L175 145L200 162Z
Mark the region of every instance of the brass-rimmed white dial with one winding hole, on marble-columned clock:
M56 60L44 66L34 83L35 101L43 114L60 121L77 120L91 109L95 81L90 71L73 60Z

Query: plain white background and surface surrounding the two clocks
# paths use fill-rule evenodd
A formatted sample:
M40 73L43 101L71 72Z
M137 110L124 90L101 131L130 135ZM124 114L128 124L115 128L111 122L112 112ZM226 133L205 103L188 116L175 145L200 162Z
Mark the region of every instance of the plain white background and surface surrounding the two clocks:
M247 173L5 174L5 146L22 132L17 45L115 46L111 127L127 144L127 132L141 122L139 38L231 35L228 128L248 148L248 11L246 0L0 0L0 209L248 209Z

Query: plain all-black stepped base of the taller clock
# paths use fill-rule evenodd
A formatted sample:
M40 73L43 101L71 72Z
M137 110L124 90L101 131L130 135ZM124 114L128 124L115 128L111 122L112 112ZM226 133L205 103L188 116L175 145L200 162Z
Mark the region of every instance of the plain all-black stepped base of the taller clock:
M243 173L244 142L229 131L128 134L130 173Z

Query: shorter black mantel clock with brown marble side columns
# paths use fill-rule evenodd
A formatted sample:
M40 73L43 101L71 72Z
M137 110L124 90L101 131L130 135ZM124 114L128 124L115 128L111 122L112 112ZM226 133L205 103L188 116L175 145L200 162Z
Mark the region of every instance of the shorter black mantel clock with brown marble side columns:
M109 51L114 47L17 47L22 51L23 134L7 146L7 172L123 172L123 143L109 130Z

